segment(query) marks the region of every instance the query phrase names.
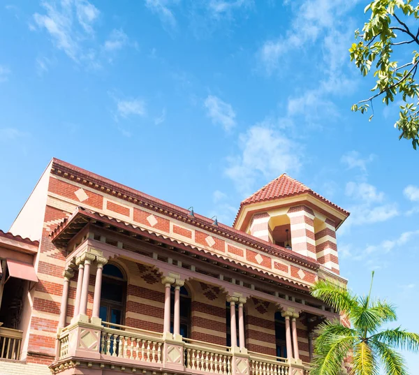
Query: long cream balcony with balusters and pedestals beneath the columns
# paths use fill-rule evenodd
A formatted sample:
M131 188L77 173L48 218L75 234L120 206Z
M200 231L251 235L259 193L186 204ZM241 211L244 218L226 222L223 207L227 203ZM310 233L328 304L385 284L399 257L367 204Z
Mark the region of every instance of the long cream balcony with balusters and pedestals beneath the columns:
M309 364L237 347L103 322L69 325L58 335L52 372L75 368L156 374L308 375ZM73 372L68 372L73 374Z

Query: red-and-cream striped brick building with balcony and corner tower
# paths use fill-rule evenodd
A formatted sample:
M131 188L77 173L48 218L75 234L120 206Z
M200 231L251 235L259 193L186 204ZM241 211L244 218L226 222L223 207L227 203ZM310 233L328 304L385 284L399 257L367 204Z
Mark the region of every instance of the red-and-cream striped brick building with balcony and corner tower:
M0 232L0 374L308 374L348 214L281 175L230 227L52 159Z

